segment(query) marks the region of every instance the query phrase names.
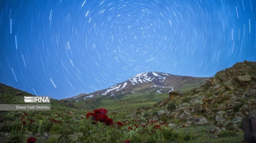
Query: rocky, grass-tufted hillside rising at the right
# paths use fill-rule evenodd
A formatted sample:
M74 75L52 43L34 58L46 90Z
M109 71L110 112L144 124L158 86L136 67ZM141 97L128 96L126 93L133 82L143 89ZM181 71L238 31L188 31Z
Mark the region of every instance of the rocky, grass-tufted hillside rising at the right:
M154 112L156 112L154 114ZM131 117L168 120L184 126L210 125L211 134L241 130L241 119L256 115L256 62L244 61L218 72L207 83L186 94L172 91L154 108Z

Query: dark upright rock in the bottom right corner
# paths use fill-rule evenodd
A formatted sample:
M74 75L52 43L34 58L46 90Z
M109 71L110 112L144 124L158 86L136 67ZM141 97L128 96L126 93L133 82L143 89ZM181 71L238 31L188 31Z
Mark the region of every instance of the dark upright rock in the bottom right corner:
M242 120L244 142L256 142L256 115Z

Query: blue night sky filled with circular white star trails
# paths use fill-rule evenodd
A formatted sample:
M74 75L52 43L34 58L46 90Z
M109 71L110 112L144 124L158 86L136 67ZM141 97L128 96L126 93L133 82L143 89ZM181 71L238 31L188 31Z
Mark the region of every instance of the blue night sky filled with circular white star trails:
M0 82L66 98L256 61L255 0L1 0Z

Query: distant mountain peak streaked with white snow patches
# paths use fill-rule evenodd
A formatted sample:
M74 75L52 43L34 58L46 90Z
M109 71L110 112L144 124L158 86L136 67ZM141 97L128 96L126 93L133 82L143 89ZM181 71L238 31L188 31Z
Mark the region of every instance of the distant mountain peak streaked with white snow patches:
M207 79L208 78L171 75L162 72L143 72L108 89L95 91L90 94L79 94L78 96L65 98L63 100L83 101L97 96L115 97L122 94L141 93L153 90L155 94L169 93L172 90L187 91L203 85Z

